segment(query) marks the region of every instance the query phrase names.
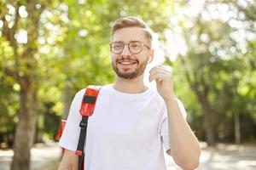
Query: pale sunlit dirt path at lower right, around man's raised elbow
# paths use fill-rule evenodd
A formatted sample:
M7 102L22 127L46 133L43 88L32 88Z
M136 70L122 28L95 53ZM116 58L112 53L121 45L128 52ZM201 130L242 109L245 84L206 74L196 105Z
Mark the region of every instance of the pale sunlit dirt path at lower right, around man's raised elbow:
M256 145L218 144L203 148L197 170L255 170ZM166 159L167 170L181 170L172 159Z

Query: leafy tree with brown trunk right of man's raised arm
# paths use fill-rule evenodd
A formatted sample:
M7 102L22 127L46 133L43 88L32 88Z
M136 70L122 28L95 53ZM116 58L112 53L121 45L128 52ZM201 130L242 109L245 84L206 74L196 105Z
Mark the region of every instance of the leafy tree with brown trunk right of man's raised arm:
M180 55L179 59L187 82L201 104L209 145L216 139L231 140L234 136L239 141L239 117L246 116L241 109L246 102L239 94L239 88L244 79L242 75L250 68L247 57L253 56L247 53L247 49L252 48L244 44L252 43L238 32L255 36L251 20L254 16L249 10L255 8L255 4L247 2L248 8L240 5L230 1L205 2L197 14L179 17L179 26L183 28L181 37L188 48L187 54ZM189 5L183 3L183 6ZM250 20L245 20L244 15L249 15ZM244 24L244 27L238 24Z

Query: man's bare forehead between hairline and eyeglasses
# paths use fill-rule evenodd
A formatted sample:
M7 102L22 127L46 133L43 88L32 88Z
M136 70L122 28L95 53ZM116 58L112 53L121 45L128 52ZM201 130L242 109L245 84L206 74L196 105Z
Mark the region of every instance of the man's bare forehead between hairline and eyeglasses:
M145 31L140 27L121 28L113 33L113 42L146 41Z

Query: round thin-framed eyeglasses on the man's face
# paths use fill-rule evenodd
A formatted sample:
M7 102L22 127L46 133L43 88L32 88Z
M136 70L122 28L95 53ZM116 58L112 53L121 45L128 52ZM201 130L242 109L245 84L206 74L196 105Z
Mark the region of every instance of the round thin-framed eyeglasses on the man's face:
M147 45L143 42L112 42L110 43L110 50L113 54L121 54L124 51L125 45L128 45L129 51L131 54L139 54L143 51L143 47L150 49Z

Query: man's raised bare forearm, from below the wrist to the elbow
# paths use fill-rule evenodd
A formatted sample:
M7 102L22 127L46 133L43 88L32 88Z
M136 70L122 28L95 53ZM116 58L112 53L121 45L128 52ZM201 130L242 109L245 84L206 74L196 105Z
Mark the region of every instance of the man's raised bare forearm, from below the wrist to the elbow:
M177 99L166 100L166 107L173 160L183 169L195 169L201 155L199 142L183 118Z

